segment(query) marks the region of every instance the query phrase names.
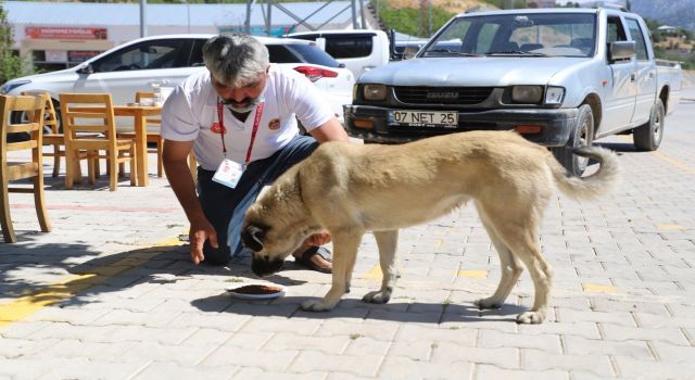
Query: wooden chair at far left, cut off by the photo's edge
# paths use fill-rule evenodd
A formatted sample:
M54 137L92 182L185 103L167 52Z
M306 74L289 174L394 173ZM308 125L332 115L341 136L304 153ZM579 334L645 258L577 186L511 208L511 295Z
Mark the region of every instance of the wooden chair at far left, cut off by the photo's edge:
M24 192L34 194L34 204L36 214L39 218L41 231L51 231L51 221L48 218L46 210L46 198L43 197L43 156L41 154L42 137L43 137L43 111L46 99L39 97L10 97L0 96L0 182L2 190L0 197L0 225L2 226L2 236L5 243L14 243L17 241L10 217L10 202L8 194L10 192ZM10 114L12 112L24 112L27 121L22 124L11 124ZM8 142L8 134L27 132L28 141ZM31 159L23 162L10 162L8 152L13 151L31 151ZM13 157L13 160L15 160ZM18 159L17 159L18 160ZM9 182L17 179L31 179L31 187L10 187Z

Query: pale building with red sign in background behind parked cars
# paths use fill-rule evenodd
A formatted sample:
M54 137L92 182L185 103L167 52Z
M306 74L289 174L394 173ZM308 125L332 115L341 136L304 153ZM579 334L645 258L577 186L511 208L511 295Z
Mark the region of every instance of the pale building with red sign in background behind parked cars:
M248 27L251 34L263 36L318 27L349 29L354 25L352 4L351 1L282 3L288 14L255 3ZM141 10L137 3L4 1L0 7L8 14L15 49L41 71L75 66L141 37ZM247 4L147 4L143 18L146 36L243 33Z

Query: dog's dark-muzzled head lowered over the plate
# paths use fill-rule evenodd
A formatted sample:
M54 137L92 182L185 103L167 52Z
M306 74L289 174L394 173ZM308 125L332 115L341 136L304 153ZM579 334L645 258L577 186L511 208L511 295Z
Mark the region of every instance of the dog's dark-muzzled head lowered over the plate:
M244 216L241 243L253 251L253 273L268 276L280 270L285 258L317 230L312 224L302 201L298 170L293 167L280 176Z

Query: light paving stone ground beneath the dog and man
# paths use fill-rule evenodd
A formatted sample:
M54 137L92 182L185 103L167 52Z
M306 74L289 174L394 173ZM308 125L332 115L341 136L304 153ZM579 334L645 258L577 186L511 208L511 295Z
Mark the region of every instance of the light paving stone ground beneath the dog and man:
M365 236L351 293L314 314L299 305L329 275L291 259L263 280L248 257L191 264L165 179L110 192L105 178L67 191L47 177L53 231L38 232L30 198L13 194L20 242L0 244L0 379L692 379L695 101L679 106L657 152L601 141L620 154L614 193L553 199L541 229L552 307L533 326L515 324L532 303L527 273L501 309L473 306L500 267L470 206L402 231L386 305L361 302L380 284ZM287 295L225 291L258 281Z

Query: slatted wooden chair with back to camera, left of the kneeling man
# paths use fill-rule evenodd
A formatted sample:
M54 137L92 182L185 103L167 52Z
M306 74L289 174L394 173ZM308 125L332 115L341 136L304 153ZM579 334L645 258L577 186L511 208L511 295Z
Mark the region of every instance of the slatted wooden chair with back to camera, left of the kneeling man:
M87 161L89 181L93 185L100 159L106 159L111 191L116 191L121 163L130 164L130 186L135 186L135 141L116 138L111 94L61 93L59 98L65 135L65 188L73 188L83 160ZM93 137L94 132L100 137Z

